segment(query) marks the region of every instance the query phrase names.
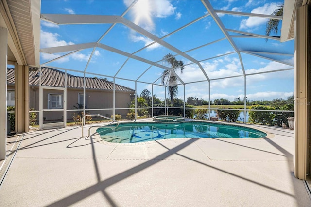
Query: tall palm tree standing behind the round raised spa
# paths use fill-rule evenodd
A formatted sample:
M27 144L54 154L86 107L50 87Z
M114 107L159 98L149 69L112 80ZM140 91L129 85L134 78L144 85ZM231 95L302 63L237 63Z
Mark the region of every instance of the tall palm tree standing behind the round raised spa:
M177 60L171 53L168 53L164 56L164 61L168 64L170 64L173 71L177 71L177 69L180 69L180 72L183 72L185 69L184 63L181 60ZM161 77L162 84L164 84L166 81L169 82L169 98L171 99L171 104L174 104L174 98L177 97L178 94L178 86L177 86L177 78L172 73L171 70L164 70Z

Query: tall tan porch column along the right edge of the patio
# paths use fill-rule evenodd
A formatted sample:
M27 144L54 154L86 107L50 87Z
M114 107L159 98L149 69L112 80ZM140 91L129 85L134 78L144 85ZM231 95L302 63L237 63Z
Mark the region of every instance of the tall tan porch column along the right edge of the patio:
M294 53L294 175L307 173L307 6L296 10Z

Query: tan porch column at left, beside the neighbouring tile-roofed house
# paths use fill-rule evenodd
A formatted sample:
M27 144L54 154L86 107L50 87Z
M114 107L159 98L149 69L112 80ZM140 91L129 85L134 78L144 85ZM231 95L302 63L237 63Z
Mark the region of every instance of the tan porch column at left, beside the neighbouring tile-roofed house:
M15 132L29 131L29 67L15 64Z

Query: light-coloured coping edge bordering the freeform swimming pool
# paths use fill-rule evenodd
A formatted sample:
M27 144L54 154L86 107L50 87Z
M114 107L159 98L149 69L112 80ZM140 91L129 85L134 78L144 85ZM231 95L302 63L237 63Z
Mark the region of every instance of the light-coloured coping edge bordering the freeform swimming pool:
M215 124L223 124L223 125L232 125L232 126L240 126L241 123L230 123L230 122L222 122L222 121L208 121L208 120L192 120L192 119L187 119L186 121L183 122L190 122L190 121L198 121L198 122L207 122L207 123L215 123ZM150 122L150 123L161 123L159 121L144 121L144 122ZM121 123L140 123L140 122L134 122L134 121L122 121ZM167 123L167 122L162 122L162 123ZM263 125L262 125L263 126ZM98 128L100 128L102 126L98 126ZM258 130L260 132L266 133L267 136L262 137L262 138L207 138L207 139L226 139L226 140L259 140L259 139L271 139L274 138L275 135L271 132L269 132L268 130L263 130L259 127L256 127L254 125L247 125L245 126L245 124L243 124L241 127L244 128L250 128L250 129L255 129ZM112 146L136 146L136 145L144 145L144 144L152 144L152 143L156 143L156 142L163 142L163 141L178 141L178 140L189 140L189 139L202 139L202 138L170 138L170 139L157 139L157 140L151 140L151 141L144 141L144 142L137 142L137 143L113 143L113 142L108 142L105 141L101 138L101 136L97 133L97 129L96 126L90 126L90 137L97 140L97 143L100 144L105 144L105 145L112 145ZM100 140L99 140L100 139Z

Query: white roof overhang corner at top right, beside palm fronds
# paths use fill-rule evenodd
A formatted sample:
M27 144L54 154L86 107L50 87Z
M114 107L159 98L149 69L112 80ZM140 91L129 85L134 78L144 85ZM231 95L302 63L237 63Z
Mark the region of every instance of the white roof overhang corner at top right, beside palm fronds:
M281 42L294 39L295 11L310 0L284 0Z

